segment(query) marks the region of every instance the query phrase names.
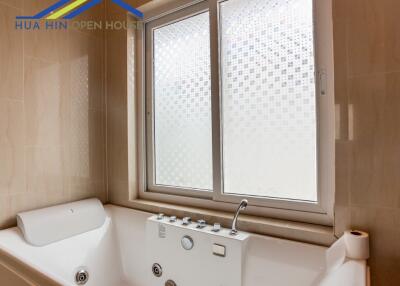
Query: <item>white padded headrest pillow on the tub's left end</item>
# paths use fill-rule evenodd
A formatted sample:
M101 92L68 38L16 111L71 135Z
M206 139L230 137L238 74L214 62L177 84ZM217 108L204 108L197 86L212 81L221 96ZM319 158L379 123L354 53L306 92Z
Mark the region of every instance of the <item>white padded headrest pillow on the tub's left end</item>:
M88 199L17 214L25 240L44 246L101 227L106 220L103 204Z

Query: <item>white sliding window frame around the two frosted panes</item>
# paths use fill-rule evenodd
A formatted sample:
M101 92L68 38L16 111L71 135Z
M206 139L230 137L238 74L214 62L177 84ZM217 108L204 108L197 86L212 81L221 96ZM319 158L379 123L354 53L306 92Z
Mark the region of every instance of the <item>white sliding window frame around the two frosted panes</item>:
M159 186L154 183L153 144L153 29L210 13L211 63L219 63L219 3L229 0L161 0L145 11L145 28L135 33L139 122L139 197L181 205L231 210L249 200L249 213L332 225L335 190L335 113L331 0L314 0L314 39L317 100L317 202L224 194L222 191L220 65L211 64L213 191ZM151 2L150 2L151 3ZM322 95L322 91L324 95Z

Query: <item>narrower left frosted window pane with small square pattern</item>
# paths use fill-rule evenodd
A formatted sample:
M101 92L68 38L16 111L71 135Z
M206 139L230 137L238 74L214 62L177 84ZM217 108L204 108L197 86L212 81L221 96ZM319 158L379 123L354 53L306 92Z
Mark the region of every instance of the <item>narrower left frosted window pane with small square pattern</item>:
M212 189L209 13L154 30L157 185Z

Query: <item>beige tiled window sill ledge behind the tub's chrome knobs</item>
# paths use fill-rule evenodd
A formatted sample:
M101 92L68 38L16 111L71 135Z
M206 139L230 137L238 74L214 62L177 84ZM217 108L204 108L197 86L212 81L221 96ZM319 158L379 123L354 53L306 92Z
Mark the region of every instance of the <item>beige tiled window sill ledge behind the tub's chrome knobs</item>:
M190 216L193 220L205 219L209 224L219 222L223 227L227 228L231 226L233 216L232 213L223 211L187 207L143 199L128 201L124 206L178 217ZM330 226L264 218L246 214L241 214L239 216L238 228L256 234L323 246L330 246L335 241L333 227Z

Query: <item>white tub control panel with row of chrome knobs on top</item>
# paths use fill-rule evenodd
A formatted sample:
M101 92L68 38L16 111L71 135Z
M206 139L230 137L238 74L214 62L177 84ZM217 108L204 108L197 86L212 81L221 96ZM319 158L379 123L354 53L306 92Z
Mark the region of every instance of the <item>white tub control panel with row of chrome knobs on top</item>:
M147 286L241 286L250 234L220 223L158 214L146 224ZM206 273L205 275L199 275ZM171 281L175 284L171 284Z

